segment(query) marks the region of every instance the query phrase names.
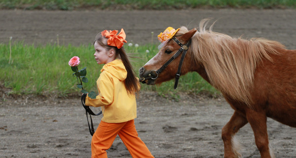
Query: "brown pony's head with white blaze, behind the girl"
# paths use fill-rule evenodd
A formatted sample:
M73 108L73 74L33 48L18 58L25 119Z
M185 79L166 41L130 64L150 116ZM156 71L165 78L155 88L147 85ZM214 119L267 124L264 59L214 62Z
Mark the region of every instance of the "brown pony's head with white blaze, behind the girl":
M179 49L180 51L184 50L181 48L181 45L188 43L196 31L195 29L188 31L187 28L182 27L180 30L177 30L172 37L169 37L167 40L165 39L165 41L159 45L158 53L139 70L142 83L153 85L174 79L182 56L182 52L180 52L180 55L176 55L176 53L179 54ZM174 40L174 38L177 40ZM185 49L187 50L186 47ZM191 49L190 46L188 46L187 54L190 54L190 52ZM175 56L175 58L173 56ZM169 63L167 62L169 60L172 61ZM194 61L191 56L185 55L181 69L182 75L192 71L192 67L190 67L190 63L192 62ZM161 71L159 71L159 69L161 69Z

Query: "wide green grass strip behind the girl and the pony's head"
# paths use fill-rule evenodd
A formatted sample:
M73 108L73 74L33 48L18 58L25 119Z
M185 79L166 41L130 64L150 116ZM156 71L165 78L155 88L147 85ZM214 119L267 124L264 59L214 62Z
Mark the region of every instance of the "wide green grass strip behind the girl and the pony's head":
M11 51L10 51L11 48ZM132 58L131 62L138 74L141 68L157 52L157 45L125 46L126 52ZM80 58L78 69L87 67L88 83L83 83L84 89L95 91L96 80L103 65L98 65L94 59L93 45L27 45L23 42L0 44L0 83L11 88L13 94L59 94L66 96L79 93L77 80L68 65L73 56ZM143 91L157 91L159 95L174 97L180 91L198 94L206 92L219 93L197 73L188 73L179 80L177 90L174 90L174 80L164 82L160 86L141 84Z

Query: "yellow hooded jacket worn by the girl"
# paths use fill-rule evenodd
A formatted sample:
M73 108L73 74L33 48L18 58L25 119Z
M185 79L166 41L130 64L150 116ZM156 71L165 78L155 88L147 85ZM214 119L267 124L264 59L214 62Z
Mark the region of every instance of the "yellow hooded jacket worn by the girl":
M127 72L120 59L103 66L97 80L99 95L96 99L88 96L85 105L102 107L104 122L119 123L137 118L137 103L135 95L128 95L124 80Z

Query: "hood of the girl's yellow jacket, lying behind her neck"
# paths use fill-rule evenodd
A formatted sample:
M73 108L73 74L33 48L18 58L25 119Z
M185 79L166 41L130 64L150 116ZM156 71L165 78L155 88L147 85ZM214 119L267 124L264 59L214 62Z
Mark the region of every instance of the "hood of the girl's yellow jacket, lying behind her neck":
M108 64L105 64L101 69L101 72L103 71L109 72L112 76L119 80L125 80L127 77L127 71L120 59L116 59Z

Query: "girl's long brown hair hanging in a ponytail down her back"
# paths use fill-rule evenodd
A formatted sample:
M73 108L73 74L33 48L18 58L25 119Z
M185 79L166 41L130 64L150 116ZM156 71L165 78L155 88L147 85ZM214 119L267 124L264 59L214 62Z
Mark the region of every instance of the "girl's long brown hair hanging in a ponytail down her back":
M94 41L95 42L98 42L101 46L103 46L104 48L106 48L107 50L110 50L110 49L114 49L115 52L116 52L116 57L119 57L127 71L127 77L124 81L124 84L125 84L125 89L127 91L127 93L129 95L131 94L138 94L139 91L140 91L140 82L139 82L139 79L136 77L136 73L135 73L135 70L133 69L129 59L128 59L128 56L127 54L125 53L125 49L124 47L122 46L121 48L117 48L115 46L110 46L107 44L107 38L105 37L102 37L101 33L99 33L97 36L96 36L96 39Z

